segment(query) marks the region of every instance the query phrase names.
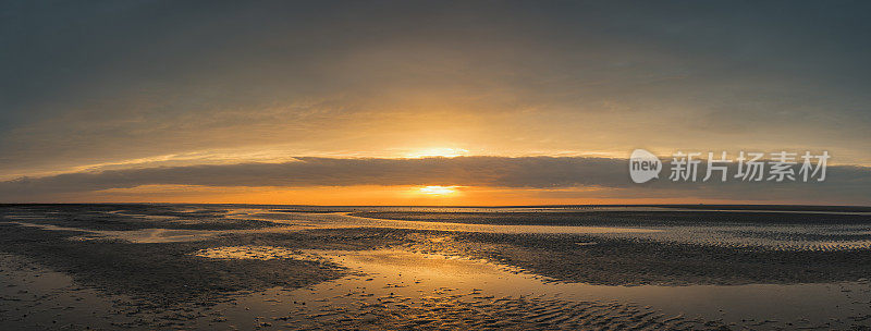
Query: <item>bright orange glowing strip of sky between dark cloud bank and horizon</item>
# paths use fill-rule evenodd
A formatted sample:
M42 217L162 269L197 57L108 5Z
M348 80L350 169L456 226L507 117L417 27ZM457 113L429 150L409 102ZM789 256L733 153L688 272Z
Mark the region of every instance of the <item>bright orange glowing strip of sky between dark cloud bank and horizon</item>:
M452 189L444 195L426 194L424 186L318 186L318 187L210 187L194 185L144 185L90 193L57 196L62 203L198 203L198 204L275 204L332 205L347 201L370 206L527 206L585 204L752 204L752 200L687 199L685 197L637 198L604 189L589 188L512 188L433 186ZM787 204L772 200L772 204Z

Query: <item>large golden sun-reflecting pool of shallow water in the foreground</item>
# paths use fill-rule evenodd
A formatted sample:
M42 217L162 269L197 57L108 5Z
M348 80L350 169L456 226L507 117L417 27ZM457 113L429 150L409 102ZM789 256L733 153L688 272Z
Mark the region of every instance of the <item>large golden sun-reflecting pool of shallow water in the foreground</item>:
M244 247L229 247L235 256ZM219 252L221 249L214 249ZM262 252L260 248L253 249ZM232 256L233 254L222 257ZM218 256L218 255L216 255ZM317 320L328 324L329 318L342 318L336 307L357 309L373 305L390 309L385 304L421 305L439 298L445 302L478 303L535 298L550 308L572 306L575 309L553 311L552 318L571 319L608 303L608 318L633 320L637 315L659 320L678 318L688 326L704 320L725 324L776 328L846 328L850 322L871 317L871 285L868 282L837 284L752 284L734 286L605 286L582 283L552 282L507 267L482 260L409 253L404 250L305 250L297 256L319 256L363 272L294 291L275 289L267 294L238 298L236 305L224 306L226 315L246 320L265 317L263 311L286 317L289 303L295 310L296 322ZM285 256L287 257L287 256ZM263 301L263 295L269 299ZM612 303L616 302L616 303ZM299 303L306 303L302 307ZM580 306L575 306L580 305ZM246 310L248 309L248 310ZM454 309L454 307L445 308ZM518 311L519 314L519 311ZM604 318L604 317L603 317ZM318 323L314 323L318 324Z

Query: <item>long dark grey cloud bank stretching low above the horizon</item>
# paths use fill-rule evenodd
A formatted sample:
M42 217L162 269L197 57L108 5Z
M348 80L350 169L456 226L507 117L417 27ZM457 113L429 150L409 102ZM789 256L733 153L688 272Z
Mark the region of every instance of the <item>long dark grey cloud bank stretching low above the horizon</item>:
M458 185L525 189L597 187L604 196L696 197L735 200L871 203L871 169L827 168L824 182L670 182L634 184L625 159L586 157L457 157L421 159L296 158L283 163L237 163L77 172L0 182L0 199L39 199L143 185L314 187ZM701 179L706 169L700 169ZM731 172L734 173L735 169Z

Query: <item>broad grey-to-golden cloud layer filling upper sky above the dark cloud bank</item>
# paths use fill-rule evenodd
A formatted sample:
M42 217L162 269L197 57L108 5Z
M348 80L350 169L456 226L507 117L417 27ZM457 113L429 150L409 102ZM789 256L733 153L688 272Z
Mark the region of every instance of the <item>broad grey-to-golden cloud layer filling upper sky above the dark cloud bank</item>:
M0 172L275 142L800 146L871 164L869 7L0 1Z

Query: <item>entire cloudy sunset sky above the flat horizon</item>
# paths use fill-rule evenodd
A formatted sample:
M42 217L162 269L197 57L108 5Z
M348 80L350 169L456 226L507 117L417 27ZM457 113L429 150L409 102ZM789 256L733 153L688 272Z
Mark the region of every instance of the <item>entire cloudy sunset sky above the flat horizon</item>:
M863 1L3 1L0 42L0 203L871 205Z

